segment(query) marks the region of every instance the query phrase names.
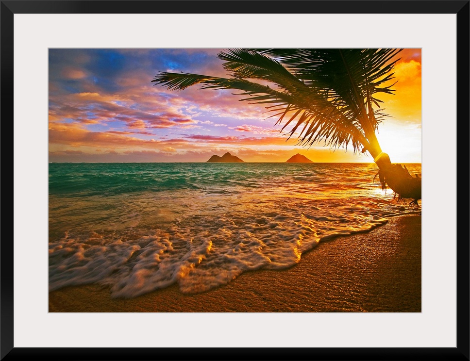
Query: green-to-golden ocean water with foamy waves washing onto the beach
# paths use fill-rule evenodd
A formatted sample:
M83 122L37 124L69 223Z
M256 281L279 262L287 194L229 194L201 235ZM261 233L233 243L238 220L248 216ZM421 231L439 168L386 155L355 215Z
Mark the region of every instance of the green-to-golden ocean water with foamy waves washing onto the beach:
M412 175L421 164L405 164ZM130 298L285 269L320 242L420 213L376 164L49 164L49 290L99 283ZM421 201L419 201L421 204Z

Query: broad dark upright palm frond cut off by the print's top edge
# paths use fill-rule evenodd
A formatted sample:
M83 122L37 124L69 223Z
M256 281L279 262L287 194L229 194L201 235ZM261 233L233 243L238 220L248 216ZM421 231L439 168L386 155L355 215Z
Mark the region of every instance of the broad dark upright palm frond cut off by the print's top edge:
M336 107L374 131L378 122L372 106L380 107L376 93L393 94L391 69L401 49L251 49L273 57L310 87L323 91Z

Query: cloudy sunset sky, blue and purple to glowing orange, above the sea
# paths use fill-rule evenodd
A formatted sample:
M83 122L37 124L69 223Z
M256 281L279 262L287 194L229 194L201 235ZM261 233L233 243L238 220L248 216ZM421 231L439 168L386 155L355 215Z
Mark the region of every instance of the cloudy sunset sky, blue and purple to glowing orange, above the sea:
M206 162L226 152L245 162L373 162L353 148L287 139L263 104L236 91L168 90L159 71L228 77L223 49L49 49L49 162ZM421 163L421 49L404 49L395 95L382 95L377 138L393 163Z

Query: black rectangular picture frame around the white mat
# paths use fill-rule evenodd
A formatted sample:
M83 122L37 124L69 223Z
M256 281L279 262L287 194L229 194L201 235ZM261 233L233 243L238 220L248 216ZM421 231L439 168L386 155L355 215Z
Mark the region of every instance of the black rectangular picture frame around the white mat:
M1 119L3 144L10 148L13 134L13 21L14 14L220 14L239 9L238 1L42 1L1 0ZM248 1L246 1L248 3ZM1 257L0 359L24 360L469 360L469 0L274 0L249 1L250 13L284 14L456 14L457 16L457 347L455 348L17 348L13 346L13 232L3 218ZM400 10L398 10L400 9ZM398 11L397 11L398 10ZM236 11L239 13L239 11ZM3 214L14 207L13 154L3 149ZM6 191L5 191L6 190ZM443 194L443 197L446 197ZM8 227L7 227L8 226Z

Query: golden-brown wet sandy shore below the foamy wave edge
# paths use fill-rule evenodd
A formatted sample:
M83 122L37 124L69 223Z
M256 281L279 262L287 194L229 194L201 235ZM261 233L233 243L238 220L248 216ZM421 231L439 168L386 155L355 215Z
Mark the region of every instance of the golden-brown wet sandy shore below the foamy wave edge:
M209 292L177 285L113 299L99 285L49 293L49 312L421 312L421 216L338 237L282 271L242 274Z

